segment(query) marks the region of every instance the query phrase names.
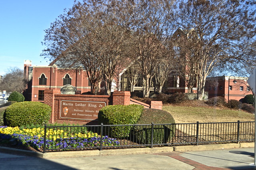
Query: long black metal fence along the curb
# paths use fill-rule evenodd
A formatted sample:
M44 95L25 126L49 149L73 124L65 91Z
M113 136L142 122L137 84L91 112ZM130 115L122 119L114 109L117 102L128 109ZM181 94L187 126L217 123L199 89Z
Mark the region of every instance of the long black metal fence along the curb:
M254 122L46 126L43 152L254 141Z

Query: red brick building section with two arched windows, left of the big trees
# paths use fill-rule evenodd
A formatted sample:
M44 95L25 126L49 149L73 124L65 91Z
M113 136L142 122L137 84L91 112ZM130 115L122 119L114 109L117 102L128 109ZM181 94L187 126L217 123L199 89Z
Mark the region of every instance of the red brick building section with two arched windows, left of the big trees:
M91 91L90 81L85 70L62 69L56 65L32 66L31 61L24 62L24 74L28 79L24 96L28 101L44 102L44 90L60 90L70 84L81 94Z

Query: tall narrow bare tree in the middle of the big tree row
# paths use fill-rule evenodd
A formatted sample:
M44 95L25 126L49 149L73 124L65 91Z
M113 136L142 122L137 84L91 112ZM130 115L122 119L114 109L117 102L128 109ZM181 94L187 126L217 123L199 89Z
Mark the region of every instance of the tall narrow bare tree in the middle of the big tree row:
M130 38L134 50L132 59L138 63L143 78L143 95L149 97L154 68L163 57L168 37L173 27L168 22L171 16L172 1L138 0L126 6L126 24L132 31Z

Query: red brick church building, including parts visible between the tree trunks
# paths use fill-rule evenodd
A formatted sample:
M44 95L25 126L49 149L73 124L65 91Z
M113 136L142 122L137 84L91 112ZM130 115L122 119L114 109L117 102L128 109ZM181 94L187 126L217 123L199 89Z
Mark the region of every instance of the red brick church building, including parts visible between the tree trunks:
M49 66L32 66L32 62L26 60L24 61L24 74L28 79L28 84L24 91L24 96L28 101L44 102L44 90L60 90L66 84L74 86L79 94L91 91L91 83L88 80L86 70L58 68L56 64L52 63ZM119 75L119 79L120 90L130 91L130 82L126 72L122 72ZM118 85L115 82L118 81L112 82L112 92L118 90ZM104 89L104 86L102 86L102 89ZM142 92L142 90L142 77L139 76L135 91ZM152 84L151 91L154 92L155 90L154 84ZM176 74L170 74L162 92L187 93L188 88L182 78ZM196 93L196 88L193 88L193 92Z

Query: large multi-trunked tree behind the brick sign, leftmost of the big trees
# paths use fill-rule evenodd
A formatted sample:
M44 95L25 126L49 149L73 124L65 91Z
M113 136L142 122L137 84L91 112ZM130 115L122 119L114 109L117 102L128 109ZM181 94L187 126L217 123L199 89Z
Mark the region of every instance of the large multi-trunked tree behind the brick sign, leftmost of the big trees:
M127 35L116 11L118 1L84 0L59 16L46 29L42 56L50 60L58 57L63 67L82 66L97 94L102 76L106 81L106 93L110 94L112 80L125 63Z

